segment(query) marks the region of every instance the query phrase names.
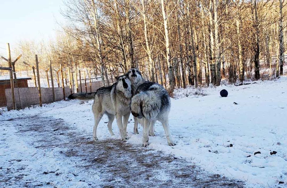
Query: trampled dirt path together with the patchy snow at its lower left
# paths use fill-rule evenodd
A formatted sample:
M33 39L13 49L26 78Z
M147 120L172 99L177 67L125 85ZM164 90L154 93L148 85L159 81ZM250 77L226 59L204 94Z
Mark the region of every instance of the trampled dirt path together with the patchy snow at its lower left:
M63 119L35 115L1 123L3 132L14 131L1 139L0 187L244 186L149 148L118 139L93 142Z

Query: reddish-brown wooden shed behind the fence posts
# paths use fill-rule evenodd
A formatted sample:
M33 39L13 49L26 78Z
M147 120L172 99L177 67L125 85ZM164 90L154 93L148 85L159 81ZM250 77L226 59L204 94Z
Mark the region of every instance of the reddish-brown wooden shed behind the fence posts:
M18 87L28 87L28 80L31 78L17 78ZM0 107L6 106L5 89L11 88L10 79L0 78Z

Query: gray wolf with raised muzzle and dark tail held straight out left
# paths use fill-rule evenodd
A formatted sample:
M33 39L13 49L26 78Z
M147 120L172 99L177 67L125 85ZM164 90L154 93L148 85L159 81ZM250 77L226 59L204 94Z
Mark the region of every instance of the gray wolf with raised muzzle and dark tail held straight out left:
M129 104L132 98L131 81L127 75L122 75L117 78L116 83L112 86L101 87L94 93L74 93L69 99L91 99L94 98L92 111L95 117L95 126L93 129L93 140L97 140L97 127L103 117L103 114L108 116L108 129L111 135L112 123L116 117L118 129L121 134L121 140L128 139L127 137L127 122L130 115Z

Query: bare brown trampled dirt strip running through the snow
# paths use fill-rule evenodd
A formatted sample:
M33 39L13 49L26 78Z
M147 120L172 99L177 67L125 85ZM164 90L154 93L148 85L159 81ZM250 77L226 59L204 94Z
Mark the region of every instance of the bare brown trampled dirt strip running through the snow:
M134 146L115 139L91 141L91 134L80 132L62 119L33 116L10 119L9 122L13 121L17 121L14 126L18 130L18 136L30 138L29 145L43 151L60 148L59 155L73 161L79 174L91 169L100 174L99 180L93 179L92 176L80 180L87 182L90 187L245 186L241 181L209 174L190 161L150 148ZM50 182L33 183L32 180L22 181L21 175L14 176L15 172L21 174L21 171L25 171L25 166L0 171L0 185L51 186ZM44 172L44 169L39 173L59 175L57 172ZM53 178L50 181L53 182Z

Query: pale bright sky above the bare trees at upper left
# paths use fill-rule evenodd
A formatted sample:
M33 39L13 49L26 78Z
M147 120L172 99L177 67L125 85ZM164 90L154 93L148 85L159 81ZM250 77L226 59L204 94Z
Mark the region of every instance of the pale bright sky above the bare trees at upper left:
M49 40L63 22L62 0L0 0L0 49L20 40Z

